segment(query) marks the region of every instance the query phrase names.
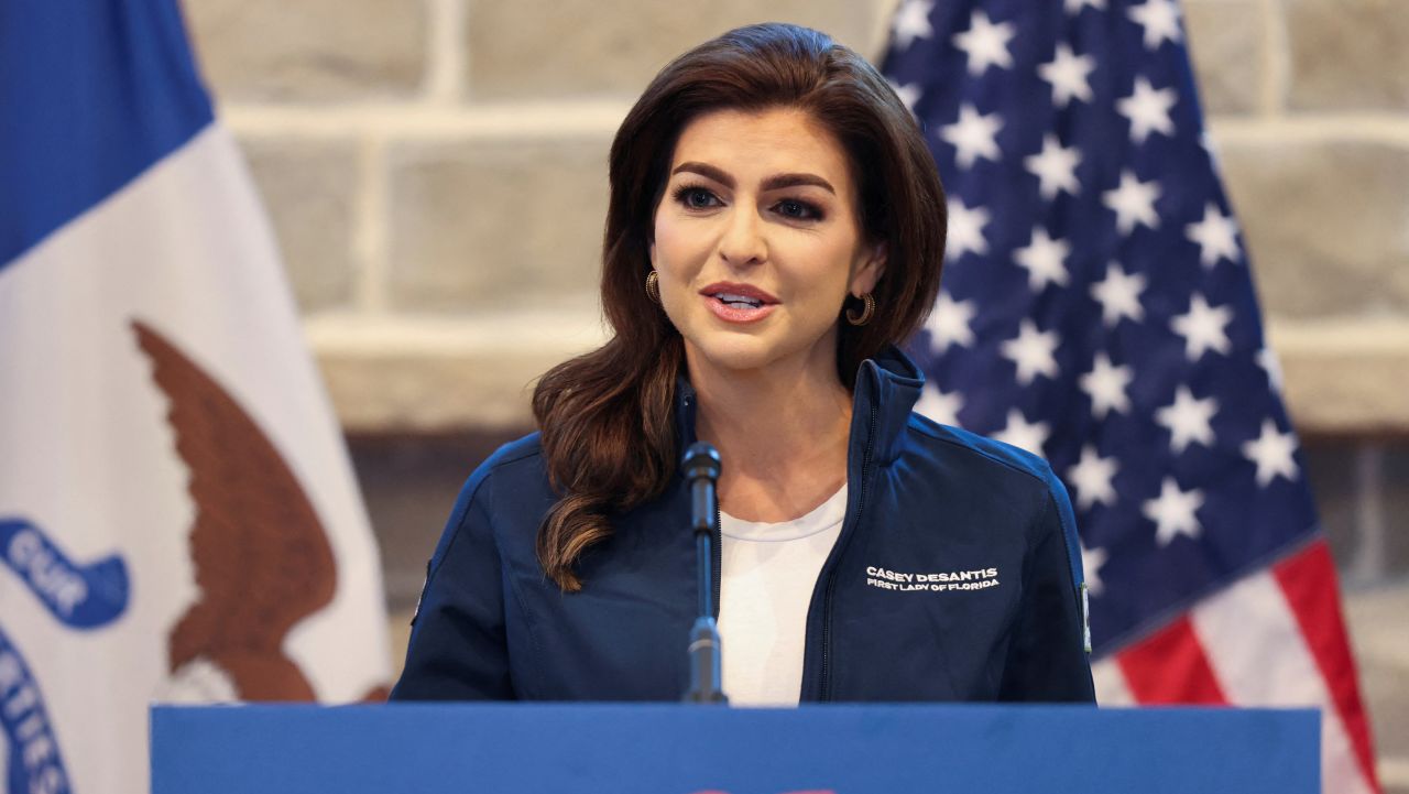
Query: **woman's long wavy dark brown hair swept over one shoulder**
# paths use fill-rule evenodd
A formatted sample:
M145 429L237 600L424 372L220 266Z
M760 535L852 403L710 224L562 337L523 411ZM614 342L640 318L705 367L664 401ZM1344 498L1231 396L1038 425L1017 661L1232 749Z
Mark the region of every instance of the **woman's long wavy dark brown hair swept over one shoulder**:
M841 323L837 371L909 338L934 303L944 258L945 203L934 159L910 111L871 63L814 30L751 25L671 62L612 142L602 306L614 336L559 364L534 389L548 477L559 501L538 529L538 561L564 591L582 588L575 563L612 533L612 516L659 496L675 477L679 331L645 292L657 204L681 131L714 110L793 107L841 144L859 186L861 228L886 244L872 292L875 317Z

